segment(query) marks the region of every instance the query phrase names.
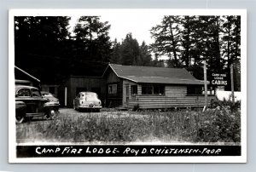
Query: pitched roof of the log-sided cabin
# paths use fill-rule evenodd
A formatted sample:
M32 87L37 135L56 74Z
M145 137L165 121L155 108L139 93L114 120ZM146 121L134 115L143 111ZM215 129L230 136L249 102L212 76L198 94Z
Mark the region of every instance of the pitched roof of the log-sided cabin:
M118 76L135 83L204 84L184 68L122 66L109 64Z

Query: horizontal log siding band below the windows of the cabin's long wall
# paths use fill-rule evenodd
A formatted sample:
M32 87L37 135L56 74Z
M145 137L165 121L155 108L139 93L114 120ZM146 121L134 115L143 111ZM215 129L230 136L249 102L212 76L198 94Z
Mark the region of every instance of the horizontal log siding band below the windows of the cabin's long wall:
M215 96L208 95L208 105ZM172 107L202 107L204 106L204 96L173 96L167 97L165 95L136 95L130 101L129 107L139 106L141 109L152 108L172 108Z

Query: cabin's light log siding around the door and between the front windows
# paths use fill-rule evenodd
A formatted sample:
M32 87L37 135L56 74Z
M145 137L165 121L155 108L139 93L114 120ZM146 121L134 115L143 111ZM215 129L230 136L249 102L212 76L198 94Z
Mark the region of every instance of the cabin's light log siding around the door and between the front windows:
M137 85L137 95L131 95L131 85ZM125 88L129 86L129 102L126 104ZM215 96L208 96L208 103ZM185 85L165 85L165 95L142 95L142 85L125 80L123 83L123 106L132 108L139 106L141 109L172 108L172 107L202 107L205 98L203 95L187 95Z

